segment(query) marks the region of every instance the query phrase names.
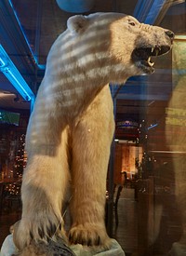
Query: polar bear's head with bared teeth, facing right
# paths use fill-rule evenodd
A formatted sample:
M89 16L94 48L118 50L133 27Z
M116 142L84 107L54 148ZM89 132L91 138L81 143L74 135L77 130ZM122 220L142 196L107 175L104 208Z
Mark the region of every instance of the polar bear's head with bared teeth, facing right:
M60 73L86 74L86 81L99 77L105 84L152 74L151 58L168 52L173 37L171 31L142 24L128 15L95 13L71 17L54 46L59 46Z

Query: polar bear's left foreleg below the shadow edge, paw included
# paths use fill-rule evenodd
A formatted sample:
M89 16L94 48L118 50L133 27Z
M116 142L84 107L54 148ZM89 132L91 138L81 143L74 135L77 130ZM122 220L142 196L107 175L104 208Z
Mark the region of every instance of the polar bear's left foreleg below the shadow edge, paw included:
M37 154L29 155L21 186L22 216L14 232L19 249L32 241L47 243L56 236L65 240L61 204L68 175L65 150L59 148L53 155L37 150Z

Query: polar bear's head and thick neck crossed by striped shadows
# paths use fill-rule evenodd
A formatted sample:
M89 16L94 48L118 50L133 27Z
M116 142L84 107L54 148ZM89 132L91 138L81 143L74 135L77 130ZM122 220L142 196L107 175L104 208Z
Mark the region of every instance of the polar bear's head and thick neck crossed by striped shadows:
M42 112L45 105L52 115L58 108L61 120L78 116L109 83L152 74L151 57L168 52L173 37L171 31L120 13L71 17L49 51L37 109Z

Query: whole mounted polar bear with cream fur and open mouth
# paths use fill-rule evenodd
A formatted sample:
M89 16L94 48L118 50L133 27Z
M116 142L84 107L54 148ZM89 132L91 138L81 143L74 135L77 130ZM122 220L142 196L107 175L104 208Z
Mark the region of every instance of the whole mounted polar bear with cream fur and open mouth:
M77 15L51 47L26 135L28 163L20 249L63 239L109 247L104 224L106 176L113 140L109 83L152 74L152 56L165 54L174 34L119 13ZM71 186L73 225L66 238L62 203Z

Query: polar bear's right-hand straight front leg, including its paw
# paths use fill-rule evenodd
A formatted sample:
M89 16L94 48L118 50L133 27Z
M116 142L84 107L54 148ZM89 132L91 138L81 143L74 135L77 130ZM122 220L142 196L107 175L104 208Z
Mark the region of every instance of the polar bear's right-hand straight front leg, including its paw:
M73 244L109 246L105 195L112 139L113 101L109 88L103 88L73 130Z

